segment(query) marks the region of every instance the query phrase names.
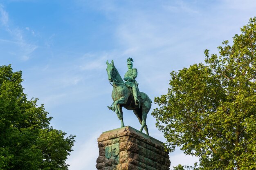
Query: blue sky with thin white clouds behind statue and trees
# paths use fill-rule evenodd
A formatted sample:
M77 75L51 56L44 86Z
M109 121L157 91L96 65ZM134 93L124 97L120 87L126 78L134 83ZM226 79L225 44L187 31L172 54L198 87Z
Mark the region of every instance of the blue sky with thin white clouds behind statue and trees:
M167 93L171 71L232 42L255 9L254 0L0 0L0 64L21 70L28 98L45 104L54 128L77 136L70 170L96 170L97 138L120 127L107 108L106 61L124 76L132 57L139 89L153 100ZM150 113L150 135L165 141ZM124 123L140 128L131 111ZM179 149L170 159L171 166L197 160Z

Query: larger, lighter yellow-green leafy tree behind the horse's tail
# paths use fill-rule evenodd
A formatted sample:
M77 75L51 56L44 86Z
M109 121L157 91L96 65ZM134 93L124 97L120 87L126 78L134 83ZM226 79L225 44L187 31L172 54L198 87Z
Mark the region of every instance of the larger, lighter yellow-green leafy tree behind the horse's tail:
M170 73L152 115L168 150L199 157L199 170L256 170L256 17L222 44L206 64Z

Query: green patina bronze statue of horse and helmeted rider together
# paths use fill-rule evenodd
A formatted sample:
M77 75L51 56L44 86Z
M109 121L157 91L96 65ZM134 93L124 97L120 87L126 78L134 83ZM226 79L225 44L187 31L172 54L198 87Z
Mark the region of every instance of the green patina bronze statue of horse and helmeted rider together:
M112 99L114 101L108 108L117 113L117 117L121 120L121 127L124 127L122 107L133 110L141 124L140 131L142 132L144 129L146 134L149 135L146 118L152 101L146 93L139 92L138 83L135 81L137 69L132 68L132 62L131 58L127 59L128 71L123 80L117 68L115 68L113 60L111 63L107 61L108 80L110 84L112 82Z

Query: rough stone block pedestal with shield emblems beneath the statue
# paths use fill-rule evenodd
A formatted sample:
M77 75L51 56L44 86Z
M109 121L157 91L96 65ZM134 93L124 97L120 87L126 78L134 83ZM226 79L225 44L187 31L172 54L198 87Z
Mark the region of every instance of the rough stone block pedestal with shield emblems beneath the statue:
M130 126L103 132L98 138L98 170L170 170L161 141Z

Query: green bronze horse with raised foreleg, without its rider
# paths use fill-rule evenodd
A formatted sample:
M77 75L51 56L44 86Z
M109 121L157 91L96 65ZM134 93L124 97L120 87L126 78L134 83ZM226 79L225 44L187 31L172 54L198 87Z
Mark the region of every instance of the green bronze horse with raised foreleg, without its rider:
M152 101L146 95L146 93L140 92L140 102L139 105L135 105L132 91L128 88L120 74L117 71L117 68L114 66L114 62L112 60L111 63L107 61L107 72L108 72L108 80L112 82L113 91L112 91L112 99L114 103L112 107L109 107L113 111L117 113L117 117L121 120L121 127L124 127L123 121L123 110L122 107L127 110L133 110L134 114L139 119L139 123L141 124L140 131L142 132L143 128L148 134L148 127L146 125L147 114L151 108Z

